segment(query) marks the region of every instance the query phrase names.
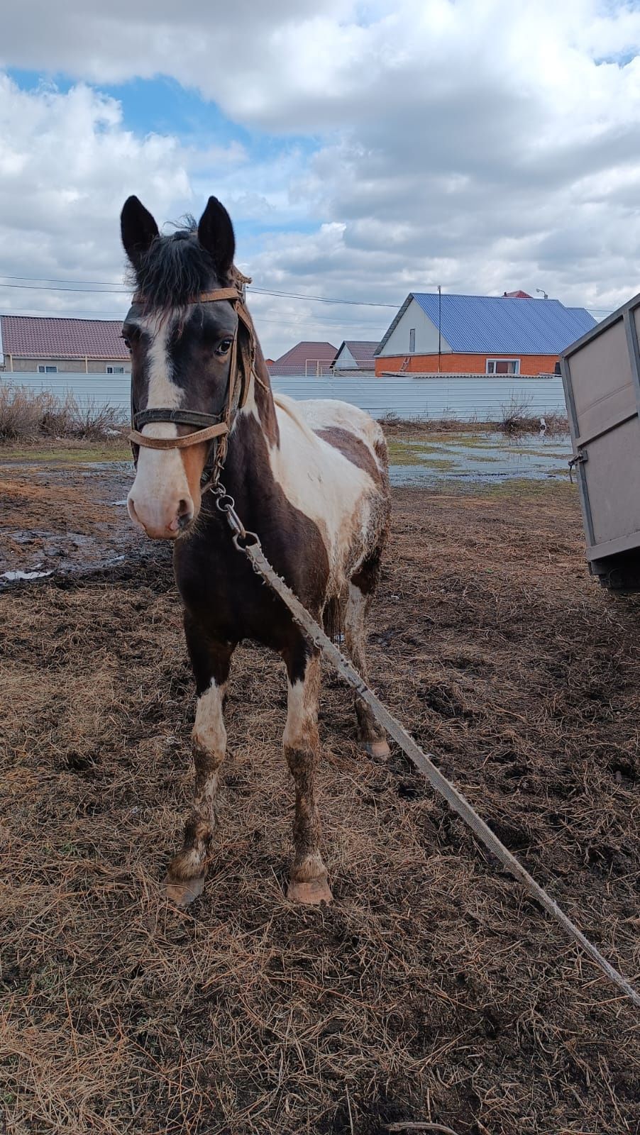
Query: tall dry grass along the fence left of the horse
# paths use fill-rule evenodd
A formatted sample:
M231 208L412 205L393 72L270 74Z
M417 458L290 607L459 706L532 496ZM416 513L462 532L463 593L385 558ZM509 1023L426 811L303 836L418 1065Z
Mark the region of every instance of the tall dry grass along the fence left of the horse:
M48 390L0 381L0 440L33 440L39 437L100 440L119 430L123 414L94 398L78 402L68 393L58 398Z

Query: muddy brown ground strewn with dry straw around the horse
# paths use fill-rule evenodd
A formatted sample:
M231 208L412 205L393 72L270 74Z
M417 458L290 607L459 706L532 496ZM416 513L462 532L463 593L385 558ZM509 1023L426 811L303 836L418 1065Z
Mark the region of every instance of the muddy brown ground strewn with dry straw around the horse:
M235 659L204 894L188 913L166 902L194 711L166 552L142 555L98 473L48 474L42 493L0 473L7 560L10 533L39 529L125 554L0 595L7 1132L637 1133L637 1011L397 751L360 755L331 674L334 905L284 898L284 673L252 647ZM582 549L558 482L396 490L371 676L638 980L640 602L599 589Z

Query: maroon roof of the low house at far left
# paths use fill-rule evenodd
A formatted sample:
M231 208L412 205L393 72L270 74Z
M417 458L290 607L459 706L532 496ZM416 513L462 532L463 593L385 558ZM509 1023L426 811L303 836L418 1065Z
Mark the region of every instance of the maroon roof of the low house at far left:
M16 359L127 359L119 319L0 316L2 350Z

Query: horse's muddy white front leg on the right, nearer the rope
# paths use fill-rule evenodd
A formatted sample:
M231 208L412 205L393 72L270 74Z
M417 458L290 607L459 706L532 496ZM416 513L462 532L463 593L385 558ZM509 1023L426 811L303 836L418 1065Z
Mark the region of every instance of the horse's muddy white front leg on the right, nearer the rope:
M315 804L315 770L320 756L318 696L320 657L303 639L285 653L288 678L285 758L295 784L294 861L287 898L293 902L330 902L327 868L320 855L320 817Z

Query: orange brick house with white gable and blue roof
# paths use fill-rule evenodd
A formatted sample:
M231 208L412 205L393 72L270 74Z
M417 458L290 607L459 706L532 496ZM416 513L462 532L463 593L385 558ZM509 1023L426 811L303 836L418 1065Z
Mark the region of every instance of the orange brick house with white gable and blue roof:
M595 326L559 300L412 292L376 352L376 373L553 375Z

